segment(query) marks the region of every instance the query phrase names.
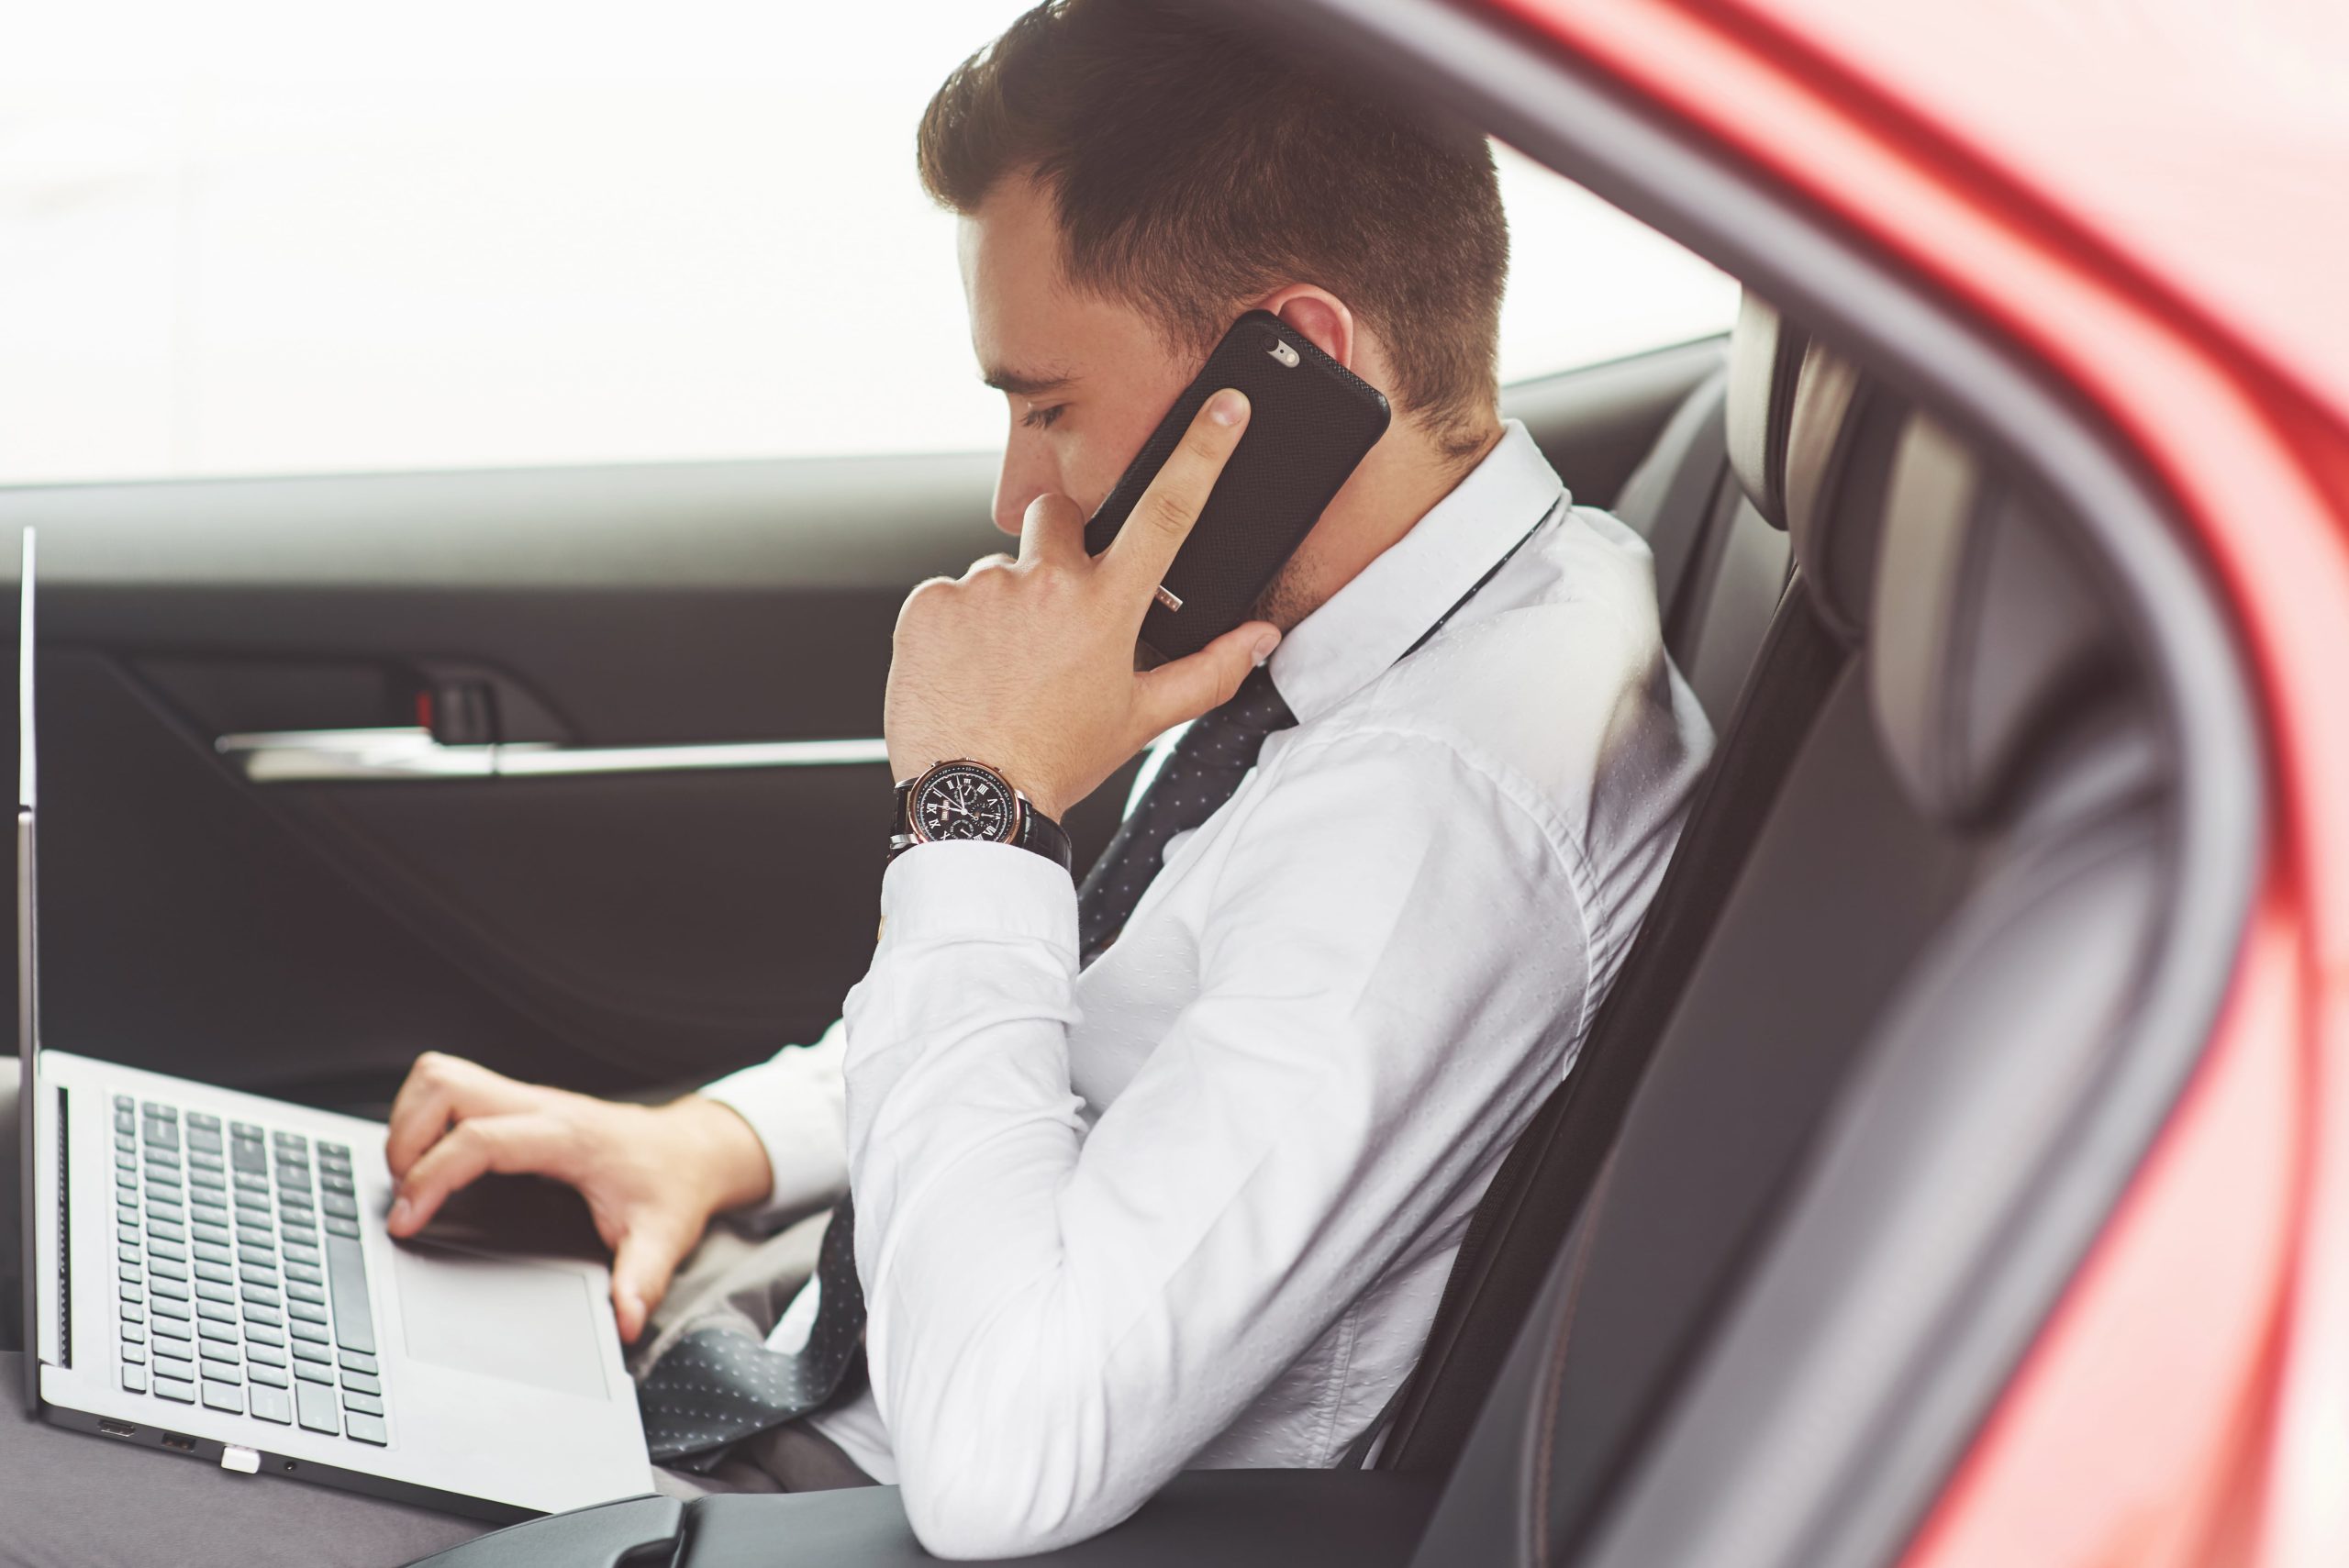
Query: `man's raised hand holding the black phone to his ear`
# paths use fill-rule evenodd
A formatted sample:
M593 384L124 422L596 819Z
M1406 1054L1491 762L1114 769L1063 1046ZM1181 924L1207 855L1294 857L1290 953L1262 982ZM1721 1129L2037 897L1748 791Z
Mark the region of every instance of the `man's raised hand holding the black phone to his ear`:
M1198 653L1135 671L1142 613L1247 427L1247 399L1207 399L1116 542L1085 554L1085 516L1038 495L1019 559L935 577L897 613L888 761L900 779L968 756L1064 817L1156 735L1226 702L1280 631L1252 620Z

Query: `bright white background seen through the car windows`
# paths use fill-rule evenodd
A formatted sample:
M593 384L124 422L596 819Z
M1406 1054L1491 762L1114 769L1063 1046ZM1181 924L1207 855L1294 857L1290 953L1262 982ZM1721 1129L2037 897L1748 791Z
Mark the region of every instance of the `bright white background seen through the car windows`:
M914 122L1008 0L68 0L0 49L0 484L991 448ZM1508 378L1736 286L1503 153Z

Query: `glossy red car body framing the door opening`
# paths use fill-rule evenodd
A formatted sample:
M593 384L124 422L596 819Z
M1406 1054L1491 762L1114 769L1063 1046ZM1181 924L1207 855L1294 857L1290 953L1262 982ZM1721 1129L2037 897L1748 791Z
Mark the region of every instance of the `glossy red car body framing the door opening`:
M2168 491L2262 707L2220 1030L1905 1563L2349 1563L2349 9L1496 9L2046 366Z

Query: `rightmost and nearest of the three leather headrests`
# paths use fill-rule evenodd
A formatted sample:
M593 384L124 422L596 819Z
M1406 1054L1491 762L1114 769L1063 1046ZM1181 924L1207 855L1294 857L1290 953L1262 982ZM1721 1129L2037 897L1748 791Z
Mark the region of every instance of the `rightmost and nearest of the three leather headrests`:
M1992 815L2112 678L2119 627L2062 540L1954 437L1900 437L1877 556L1870 702L1917 807Z

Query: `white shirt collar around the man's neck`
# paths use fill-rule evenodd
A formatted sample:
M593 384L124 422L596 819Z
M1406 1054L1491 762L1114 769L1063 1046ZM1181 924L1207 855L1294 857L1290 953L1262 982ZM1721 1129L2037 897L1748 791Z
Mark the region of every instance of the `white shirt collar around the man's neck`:
M1280 638L1273 685L1297 721L1311 723L1386 674L1564 488L1525 425L1508 420L1449 495Z

